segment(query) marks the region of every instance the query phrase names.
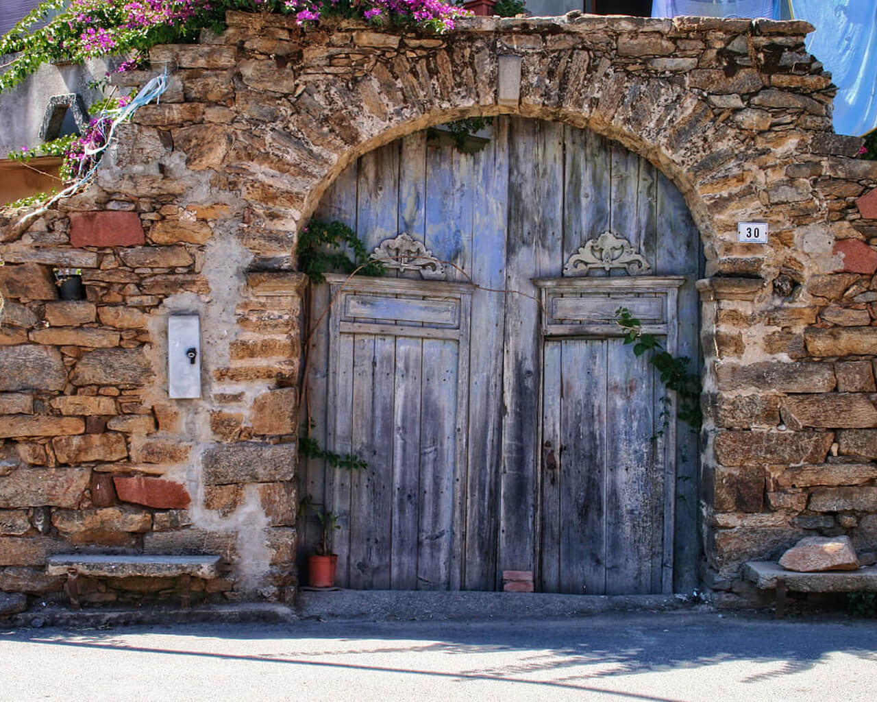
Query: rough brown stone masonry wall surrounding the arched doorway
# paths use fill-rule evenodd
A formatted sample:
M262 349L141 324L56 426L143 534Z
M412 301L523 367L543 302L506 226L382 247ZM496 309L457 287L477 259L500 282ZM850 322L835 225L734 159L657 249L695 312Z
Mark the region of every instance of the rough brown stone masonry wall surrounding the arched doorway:
M802 22L463 20L303 30L229 13L159 46L88 190L0 229L0 591L45 597L48 555L215 553L211 597L296 585L296 231L353 159L471 115L588 127L654 162L702 233L703 578L805 535L877 548L877 162L832 133ZM872 218L873 216L873 218ZM769 224L740 244L738 221ZM55 266L88 299L59 301ZM167 393L168 315L197 313L203 398ZM167 591L131 578L84 599Z

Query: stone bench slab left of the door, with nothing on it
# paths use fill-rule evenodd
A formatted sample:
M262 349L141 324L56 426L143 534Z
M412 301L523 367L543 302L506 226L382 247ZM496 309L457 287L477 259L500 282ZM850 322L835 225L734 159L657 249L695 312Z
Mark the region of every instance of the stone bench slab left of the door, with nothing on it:
M219 577L219 555L53 555L46 561L50 576L71 571L90 577Z

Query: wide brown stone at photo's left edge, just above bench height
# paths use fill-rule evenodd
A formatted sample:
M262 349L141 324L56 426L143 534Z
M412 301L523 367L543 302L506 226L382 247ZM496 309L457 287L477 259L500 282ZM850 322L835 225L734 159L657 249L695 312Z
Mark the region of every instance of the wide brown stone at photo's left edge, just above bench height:
M89 486L87 468L18 468L0 476L0 507L74 508Z

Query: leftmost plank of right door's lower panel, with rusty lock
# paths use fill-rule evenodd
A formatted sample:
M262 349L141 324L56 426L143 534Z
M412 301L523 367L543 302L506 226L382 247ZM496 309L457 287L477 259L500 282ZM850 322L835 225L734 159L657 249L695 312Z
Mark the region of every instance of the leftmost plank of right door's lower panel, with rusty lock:
M561 343L545 341L542 355L542 532L539 553L541 590L560 592L560 534L567 528L560 512L566 456L560 433ZM572 401L572 398L567 399Z

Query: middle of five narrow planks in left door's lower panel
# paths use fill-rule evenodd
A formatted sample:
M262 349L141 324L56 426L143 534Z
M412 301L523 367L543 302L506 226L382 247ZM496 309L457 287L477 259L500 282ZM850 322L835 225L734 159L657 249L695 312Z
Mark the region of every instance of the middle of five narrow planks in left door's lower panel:
M372 397L372 452L368 460L367 560L372 563L374 590L390 589L390 553L393 544L394 427L396 412L396 338L374 339L374 395Z

